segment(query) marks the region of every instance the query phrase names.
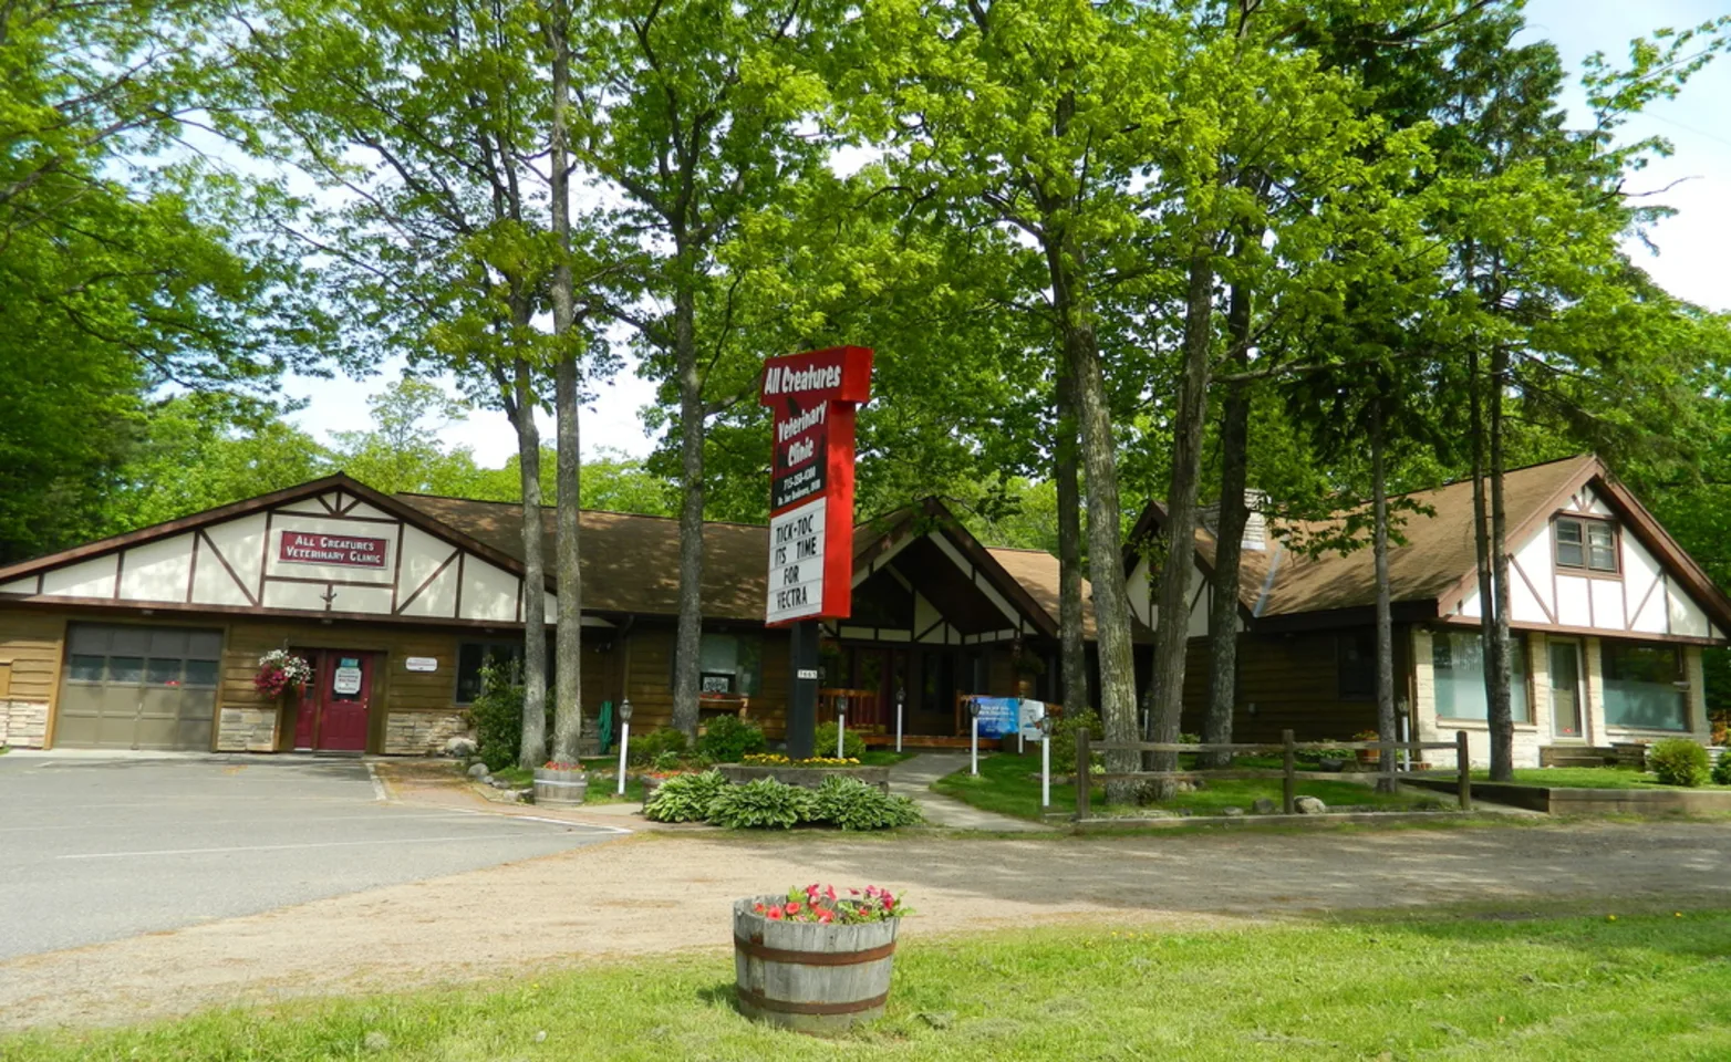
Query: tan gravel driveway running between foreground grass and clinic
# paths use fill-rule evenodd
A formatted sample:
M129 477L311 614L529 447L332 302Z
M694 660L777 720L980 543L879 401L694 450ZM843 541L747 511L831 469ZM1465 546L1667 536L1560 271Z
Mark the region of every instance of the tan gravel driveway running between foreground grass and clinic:
M956 839L639 834L436 880L0 963L0 1027L400 989L535 963L722 948L730 898L907 891L914 937L1111 917L1156 924L1485 905L1731 906L1707 823ZM677 917L673 917L677 913Z

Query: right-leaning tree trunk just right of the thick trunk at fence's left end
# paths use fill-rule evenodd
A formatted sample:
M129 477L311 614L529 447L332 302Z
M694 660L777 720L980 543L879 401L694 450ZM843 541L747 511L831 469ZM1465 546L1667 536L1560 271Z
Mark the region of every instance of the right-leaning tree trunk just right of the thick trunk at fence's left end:
M1160 569L1160 612L1155 621L1155 676L1148 687L1149 740L1175 742L1184 714L1184 652L1189 647L1189 586L1196 569L1196 481L1201 477L1201 434L1208 419L1208 348L1213 337L1213 265L1198 244L1189 263L1184 310L1184 372L1174 425L1172 484L1167 491L1167 562ZM1243 502L1243 495L1239 495ZM1177 768L1177 756L1153 758L1155 770ZM1172 784L1156 787L1170 796Z

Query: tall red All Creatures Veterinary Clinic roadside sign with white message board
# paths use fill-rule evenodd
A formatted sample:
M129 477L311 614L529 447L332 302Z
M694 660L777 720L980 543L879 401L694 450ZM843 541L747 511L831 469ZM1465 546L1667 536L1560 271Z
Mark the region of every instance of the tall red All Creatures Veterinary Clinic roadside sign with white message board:
M775 415L765 623L845 619L853 602L853 410L871 349L770 358L758 396Z

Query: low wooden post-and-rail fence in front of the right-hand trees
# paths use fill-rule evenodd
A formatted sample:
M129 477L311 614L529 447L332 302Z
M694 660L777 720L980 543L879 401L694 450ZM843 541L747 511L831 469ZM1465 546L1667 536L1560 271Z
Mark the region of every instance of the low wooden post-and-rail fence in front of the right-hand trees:
M1091 815L1091 803L1094 799L1092 782L1146 782L1151 778L1163 778L1172 782L1196 782L1207 778L1279 778L1283 811L1286 815L1297 815L1298 803L1298 780L1329 780L1338 782L1340 775L1331 771L1300 771L1298 770L1298 752L1300 751L1322 751L1322 749L1342 749L1357 752L1361 749L1371 752L1426 752L1438 749L1454 749L1454 771L1425 771L1428 777L1437 775L1456 775L1456 799L1461 804L1461 811L1473 809L1473 778L1466 752L1466 732L1456 730L1452 742L1297 742L1293 740L1291 730L1281 732L1281 744L1277 745L1253 745L1253 744L1201 744L1201 745L1182 745L1172 742L1096 742L1085 728L1077 730L1077 820L1085 822ZM1217 770L1189 770L1189 771L1120 771L1094 775L1089 771L1092 766L1094 752L1279 752L1281 770L1271 768L1217 768ZM1388 766L1378 771L1383 785L1393 789L1395 771L1393 758L1388 758Z

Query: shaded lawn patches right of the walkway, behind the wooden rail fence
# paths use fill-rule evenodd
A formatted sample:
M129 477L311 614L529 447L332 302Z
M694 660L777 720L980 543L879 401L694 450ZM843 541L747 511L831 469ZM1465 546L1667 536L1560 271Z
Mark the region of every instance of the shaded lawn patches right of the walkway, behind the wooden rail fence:
M949 775L947 778L938 778L933 782L933 789L952 796L959 801L966 801L985 811L999 811L1002 815L1020 815L1023 818L1040 816L1040 758L1032 756L1013 756L1009 752L999 752L997 756L988 756L980 759L980 777L973 777L966 771ZM1355 782L1298 782L1300 796L1319 797L1329 808L1381 808L1388 811L1412 809L1425 803L1435 803L1437 794L1380 794L1369 785L1359 785ZM1243 808L1250 809L1250 804L1257 797L1269 797L1276 804L1281 803L1281 782L1279 778L1245 778L1245 780L1219 780L1208 782L1208 787L1198 792L1186 792L1177 796L1165 804L1158 804L1165 811L1189 809L1193 815L1219 815L1226 808ZM1094 787L1094 799L1104 799L1104 787ZM1052 785L1052 811L1070 811L1075 808L1075 787L1073 785Z

